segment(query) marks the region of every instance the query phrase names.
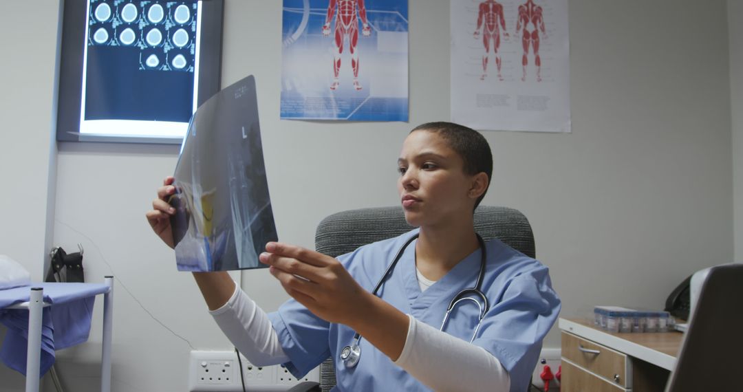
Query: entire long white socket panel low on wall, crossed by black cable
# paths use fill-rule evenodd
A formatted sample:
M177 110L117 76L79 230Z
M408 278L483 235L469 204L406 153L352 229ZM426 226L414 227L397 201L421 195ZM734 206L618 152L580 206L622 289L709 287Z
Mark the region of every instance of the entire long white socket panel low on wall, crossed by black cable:
M242 354L243 377L248 391L287 391L300 382L319 382L320 371L315 368L302 379L294 376L282 365L256 366ZM189 357L189 391L192 392L242 392L240 365L234 351L191 351Z

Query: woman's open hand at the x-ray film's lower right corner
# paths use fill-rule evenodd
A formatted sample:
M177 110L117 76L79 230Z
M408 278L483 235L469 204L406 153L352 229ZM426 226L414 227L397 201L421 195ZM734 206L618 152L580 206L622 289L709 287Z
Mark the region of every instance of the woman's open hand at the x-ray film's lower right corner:
M340 261L299 246L270 242L260 255L284 290L319 318L351 324L363 317L369 292Z

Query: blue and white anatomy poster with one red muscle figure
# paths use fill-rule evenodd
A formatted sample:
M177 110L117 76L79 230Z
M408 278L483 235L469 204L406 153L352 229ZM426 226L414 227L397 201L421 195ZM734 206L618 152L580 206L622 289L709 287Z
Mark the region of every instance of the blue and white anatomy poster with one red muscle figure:
M408 120L408 0L284 0L281 118Z

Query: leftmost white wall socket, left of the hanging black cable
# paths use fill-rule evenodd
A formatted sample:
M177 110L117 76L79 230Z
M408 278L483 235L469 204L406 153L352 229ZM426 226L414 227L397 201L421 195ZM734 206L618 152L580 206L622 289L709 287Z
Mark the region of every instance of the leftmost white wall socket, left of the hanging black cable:
M189 391L241 391L237 364L232 351L191 351Z

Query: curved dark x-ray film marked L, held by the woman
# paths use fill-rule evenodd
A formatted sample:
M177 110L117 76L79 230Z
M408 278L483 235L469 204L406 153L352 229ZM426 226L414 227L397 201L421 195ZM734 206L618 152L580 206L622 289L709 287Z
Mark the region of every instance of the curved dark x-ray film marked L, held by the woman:
M253 76L222 89L193 114L174 185L170 222L178 270L267 267L258 255L278 237Z

